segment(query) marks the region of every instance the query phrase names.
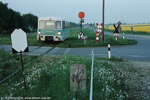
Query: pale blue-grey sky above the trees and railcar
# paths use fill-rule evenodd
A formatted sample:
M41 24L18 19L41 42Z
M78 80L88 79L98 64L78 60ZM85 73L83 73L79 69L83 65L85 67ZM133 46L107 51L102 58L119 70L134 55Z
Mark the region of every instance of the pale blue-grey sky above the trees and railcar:
M79 22L85 12L85 23L102 22L103 0L1 0L21 14L59 17ZM150 0L105 0L105 23L150 23Z

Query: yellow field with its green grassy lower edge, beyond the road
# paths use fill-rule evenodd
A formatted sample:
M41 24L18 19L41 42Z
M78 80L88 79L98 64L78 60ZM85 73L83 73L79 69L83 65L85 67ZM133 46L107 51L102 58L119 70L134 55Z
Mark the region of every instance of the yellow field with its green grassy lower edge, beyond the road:
M133 32L131 33L131 27L133 27ZM114 26L105 27L106 31L113 32ZM140 34L140 35L150 35L150 24L133 24L133 25L121 25L121 33L126 34Z

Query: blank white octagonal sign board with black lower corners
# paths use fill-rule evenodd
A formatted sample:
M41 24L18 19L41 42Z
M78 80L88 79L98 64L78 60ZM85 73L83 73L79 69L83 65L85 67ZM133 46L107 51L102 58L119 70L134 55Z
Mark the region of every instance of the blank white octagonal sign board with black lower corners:
M27 36L22 29L15 29L11 34L12 52L28 52Z

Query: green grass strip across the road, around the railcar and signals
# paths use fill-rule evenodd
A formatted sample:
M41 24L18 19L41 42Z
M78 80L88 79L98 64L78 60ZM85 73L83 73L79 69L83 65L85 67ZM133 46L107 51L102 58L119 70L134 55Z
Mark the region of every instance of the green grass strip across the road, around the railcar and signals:
M110 36L105 36L105 42L99 41L99 43L96 43L96 33L88 29L83 29L84 35L88 36L87 44L84 45L83 40L78 39L77 37L79 31L80 31L79 29L71 29L70 38L68 38L64 42L39 42L36 39L36 33L28 33L27 34L28 44L30 46L57 46L63 48L68 48L69 45L71 45L71 48L76 48L76 47L100 47L100 46L107 46L108 44L111 44L112 46L130 45L137 43L137 41L135 40L128 40L128 39L123 40L122 38L119 38L118 42L115 42L115 38ZM1 36L0 44L11 44L10 37L8 35Z

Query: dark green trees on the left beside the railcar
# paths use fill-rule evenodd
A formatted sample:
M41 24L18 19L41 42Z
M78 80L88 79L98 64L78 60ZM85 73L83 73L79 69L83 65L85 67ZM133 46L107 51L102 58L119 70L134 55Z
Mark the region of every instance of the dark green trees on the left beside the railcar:
M8 4L0 1L0 34L10 34L16 28L21 28L25 32L37 30L38 17L28 13L21 15L19 12L8 8Z

